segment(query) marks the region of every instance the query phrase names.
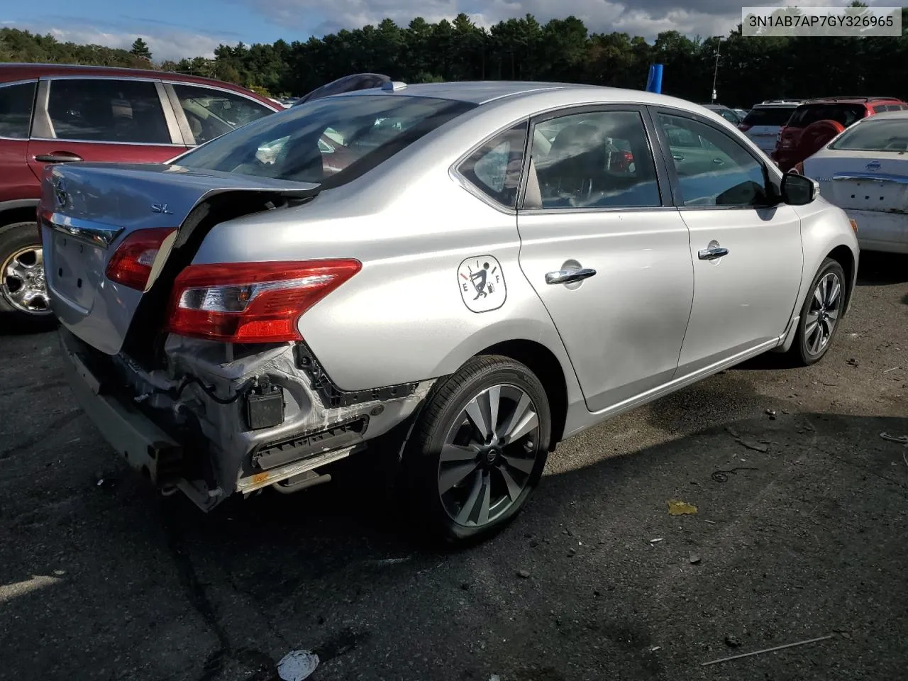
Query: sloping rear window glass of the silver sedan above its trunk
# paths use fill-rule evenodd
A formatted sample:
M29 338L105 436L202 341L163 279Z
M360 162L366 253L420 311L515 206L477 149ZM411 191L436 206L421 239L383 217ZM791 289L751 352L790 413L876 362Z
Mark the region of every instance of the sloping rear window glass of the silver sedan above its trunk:
M337 186L474 106L428 97L336 95L244 125L174 163Z

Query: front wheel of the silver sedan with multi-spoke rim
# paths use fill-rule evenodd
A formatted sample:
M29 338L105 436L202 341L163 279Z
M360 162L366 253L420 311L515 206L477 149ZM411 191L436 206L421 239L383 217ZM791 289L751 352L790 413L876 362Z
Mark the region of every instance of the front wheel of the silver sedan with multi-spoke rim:
M801 309L797 338L792 347L801 363L814 364L829 350L844 310L846 285L842 265L827 258L816 273Z

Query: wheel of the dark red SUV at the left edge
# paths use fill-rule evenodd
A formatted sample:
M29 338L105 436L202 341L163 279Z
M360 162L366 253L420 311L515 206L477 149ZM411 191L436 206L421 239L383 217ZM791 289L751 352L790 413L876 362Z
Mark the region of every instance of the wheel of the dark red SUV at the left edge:
M0 227L0 314L5 329L41 331L54 326L35 222Z

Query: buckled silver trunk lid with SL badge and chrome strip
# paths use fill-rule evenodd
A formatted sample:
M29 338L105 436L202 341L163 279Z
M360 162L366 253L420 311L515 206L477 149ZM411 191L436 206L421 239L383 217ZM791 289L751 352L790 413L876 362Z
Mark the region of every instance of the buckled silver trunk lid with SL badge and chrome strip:
M193 208L225 192L305 198L316 195L320 186L163 163L48 167L38 214L51 308L69 331L114 355ZM144 291L107 279L107 265L123 239L138 230L166 227L177 232L157 252Z

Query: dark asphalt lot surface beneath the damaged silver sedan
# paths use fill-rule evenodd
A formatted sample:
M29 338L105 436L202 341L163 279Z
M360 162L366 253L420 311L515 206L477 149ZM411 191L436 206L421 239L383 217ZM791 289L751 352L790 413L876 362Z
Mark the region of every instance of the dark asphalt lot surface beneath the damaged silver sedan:
M344 470L210 516L156 498L54 334L0 335L0 678L271 681L301 648L316 681L902 678L908 448L881 433L908 435L908 261L863 258L820 365L759 358L563 443L449 555Z

